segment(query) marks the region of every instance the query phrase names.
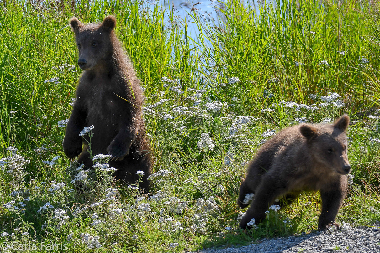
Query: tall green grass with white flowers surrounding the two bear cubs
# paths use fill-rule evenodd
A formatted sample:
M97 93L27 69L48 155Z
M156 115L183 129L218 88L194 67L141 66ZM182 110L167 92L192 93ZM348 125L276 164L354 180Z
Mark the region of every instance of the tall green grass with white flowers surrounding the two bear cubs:
M16 146L17 153L30 162L17 173L6 173L9 165L0 171L1 204L14 200L20 208L10 211L0 205L0 233L16 233L16 237L0 237L0 243L36 240L38 245L67 244L68 252L177 252L313 231L321 209L318 193L301 195L289 208L271 212L258 228L241 233L237 229L241 211L236 204L246 169L241 163L253 159L261 140L268 139L261 137L266 130L278 132L296 124L295 118L319 123L343 113L352 121L348 156L355 178L337 220L356 225L380 220L380 144L374 141L380 138L380 123L367 117L379 116L379 8L354 1L337 6L305 0L275 6L259 5L260 14L256 15L252 8L228 0L217 10L221 18L215 23L203 22L202 13L194 11L191 22L196 23L200 35L191 38L187 29L190 21L157 4L149 11L135 1L47 1L41 6L2 1L0 157L10 155L8 146ZM170 22L165 13L169 13ZM60 64L76 65L78 57L67 24L71 16L82 22L100 22L108 14L116 16L117 36L146 89L145 106L168 99L152 108L154 112L145 109L154 172L168 170L171 174L163 176L161 182L153 181L155 189L139 202L150 205L150 212L144 215L138 213L139 204L135 206L141 193L113 182L100 171L96 176L102 177L103 183L90 181L82 192L67 192L74 185L67 173L70 161L62 152L64 128L58 127L57 121L70 116L69 103L80 75L78 68L78 72L58 69ZM369 62L364 63L363 58ZM168 83L160 80L164 76L178 78L174 85L184 93L167 87ZM60 83L44 82L54 77L59 77ZM231 77L240 81L220 85ZM196 92L188 88L205 91L195 98ZM329 92L342 96L345 106L322 107L321 96ZM195 99L199 104L193 104ZM212 101L220 101L221 108L204 110ZM318 110L271 107L281 101L316 104ZM179 106L187 107L179 109L187 111L186 115L173 110ZM265 108L274 112L261 112ZM164 113L174 119L163 119ZM242 124L234 137L226 139L236 116L261 119ZM198 148L203 133L209 134L215 145L212 150ZM43 162L55 156L61 157L56 164ZM65 186L48 191L59 182ZM105 198L108 188L117 189L116 201L90 207ZM19 193L10 196L14 191ZM161 198L148 200L159 191ZM24 201L27 197L30 200ZM18 204L21 201L25 207ZM37 212L48 201L54 208ZM78 207L89 209L78 213ZM58 208L70 217L66 222L59 224L59 218L52 218L59 216L54 213ZM121 214L112 212L118 208L123 210ZM99 218L92 218L95 212ZM161 216L174 221L161 222ZM93 220L101 223L92 226ZM232 229L226 230L227 226ZM28 236L22 236L23 232ZM81 233L99 236L101 249L89 249ZM68 240L70 234L72 239ZM171 248L171 243L178 246Z

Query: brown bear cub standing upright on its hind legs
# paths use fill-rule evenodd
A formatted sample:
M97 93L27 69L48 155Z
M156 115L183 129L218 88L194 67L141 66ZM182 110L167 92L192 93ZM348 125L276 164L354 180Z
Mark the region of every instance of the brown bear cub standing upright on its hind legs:
M144 176L139 187L149 189L152 158L145 137L141 105L143 94L135 69L116 38L116 19L107 16L100 24L82 24L76 17L70 25L79 50L79 68L83 70L76 90L76 101L66 127L63 150L70 159L92 169L88 147L82 150L79 136L86 126L94 126L91 151L110 154L113 176L135 183L141 170ZM84 143L87 143L84 142Z

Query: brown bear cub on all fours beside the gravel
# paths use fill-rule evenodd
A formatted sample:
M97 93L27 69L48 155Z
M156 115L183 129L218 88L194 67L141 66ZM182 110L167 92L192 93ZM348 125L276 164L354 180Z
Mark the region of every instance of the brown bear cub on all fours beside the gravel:
M348 123L350 118L343 115L334 124L288 127L264 143L240 187L240 208L248 206L247 194L255 194L240 228L247 228L252 218L259 223L272 204L284 207L302 192L318 190L322 199L318 230L326 230L330 224L339 228L335 218L346 195L346 175L351 169L345 132ZM275 203L276 199L280 201Z

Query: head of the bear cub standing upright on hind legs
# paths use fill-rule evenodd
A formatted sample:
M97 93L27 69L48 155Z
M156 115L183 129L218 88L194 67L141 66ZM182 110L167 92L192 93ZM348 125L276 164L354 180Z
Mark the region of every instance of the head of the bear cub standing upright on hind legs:
M90 70L111 57L115 25L114 16L107 16L98 24L82 24L76 17L70 19L79 51L79 68Z

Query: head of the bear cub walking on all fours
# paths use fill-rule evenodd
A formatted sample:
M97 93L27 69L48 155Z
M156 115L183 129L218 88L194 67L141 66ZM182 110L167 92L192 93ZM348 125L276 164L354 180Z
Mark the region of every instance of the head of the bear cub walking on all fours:
M343 115L334 124L302 124L299 127L306 138L310 155L341 175L348 174L351 169L347 157L346 135L349 123L350 118Z

